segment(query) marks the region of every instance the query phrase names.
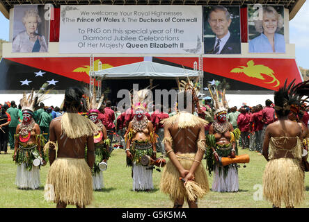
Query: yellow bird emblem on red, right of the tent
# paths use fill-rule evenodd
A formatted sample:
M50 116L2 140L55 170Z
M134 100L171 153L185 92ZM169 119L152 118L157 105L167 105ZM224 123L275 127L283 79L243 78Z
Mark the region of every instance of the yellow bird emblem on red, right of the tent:
M267 84L276 83L276 85L274 85L273 87L277 87L278 85L280 85L280 82L276 78L276 76L274 76L274 71L272 69L264 65L254 65L253 60L247 62L247 67L238 66L238 68L234 68L230 72L238 74L244 73L246 76L258 78L261 80L265 79L262 75L267 75L273 78L273 80L271 80Z

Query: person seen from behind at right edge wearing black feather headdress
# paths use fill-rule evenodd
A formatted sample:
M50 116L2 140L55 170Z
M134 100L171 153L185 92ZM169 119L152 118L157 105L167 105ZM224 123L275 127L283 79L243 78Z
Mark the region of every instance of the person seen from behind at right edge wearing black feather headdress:
M288 115L292 105L301 105L301 98L309 96L309 80L297 85L294 81L287 86L285 80L285 85L275 92L278 121L265 130L262 155L268 162L263 174L263 196L273 207L284 204L290 208L304 200L303 135L299 124L288 119Z

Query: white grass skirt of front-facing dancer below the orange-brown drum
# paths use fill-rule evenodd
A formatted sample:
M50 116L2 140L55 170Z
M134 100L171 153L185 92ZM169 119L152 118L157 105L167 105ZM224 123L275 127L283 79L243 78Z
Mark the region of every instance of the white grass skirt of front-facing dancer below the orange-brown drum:
M212 191L215 192L236 192L239 189L237 165L228 165L226 176L223 173L223 167L219 169L218 164L214 165L214 181L212 182Z

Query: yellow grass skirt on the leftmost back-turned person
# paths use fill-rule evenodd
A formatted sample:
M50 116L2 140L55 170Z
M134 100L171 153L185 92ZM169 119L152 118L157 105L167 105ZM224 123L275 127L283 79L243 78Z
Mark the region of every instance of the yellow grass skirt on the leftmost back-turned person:
M45 199L85 206L93 201L93 178L84 159L56 158L49 168Z

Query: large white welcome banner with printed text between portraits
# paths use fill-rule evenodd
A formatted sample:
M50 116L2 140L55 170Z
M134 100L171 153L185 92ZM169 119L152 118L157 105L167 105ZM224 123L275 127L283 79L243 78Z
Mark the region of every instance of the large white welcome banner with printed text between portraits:
M202 6L61 6L60 53L203 53Z

